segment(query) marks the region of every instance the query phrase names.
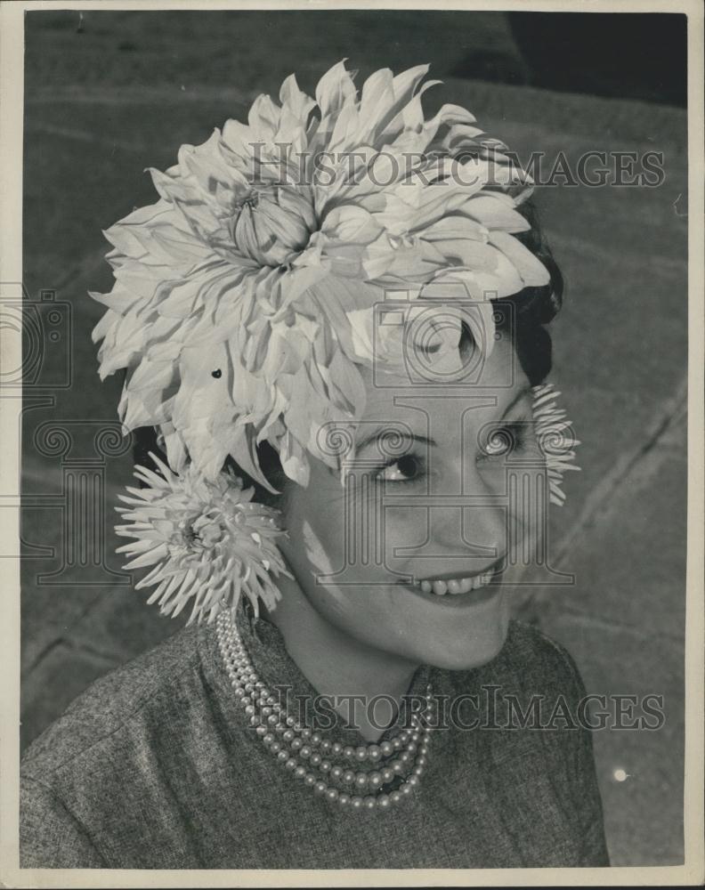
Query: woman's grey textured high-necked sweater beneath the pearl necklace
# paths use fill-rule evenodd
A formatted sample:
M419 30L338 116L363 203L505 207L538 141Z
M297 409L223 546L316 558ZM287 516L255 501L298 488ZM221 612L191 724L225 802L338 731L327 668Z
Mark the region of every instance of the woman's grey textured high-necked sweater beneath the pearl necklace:
M239 629L265 683L315 694L276 627L241 610ZM544 729L507 722L507 693L525 707L531 694L541 695L544 724L559 700L575 716L584 689L563 648L513 621L490 664L419 668L409 692L424 690L429 674L434 692L449 700L478 695L481 726L434 732L424 781L401 804L348 812L312 794L264 748L233 698L214 628L180 631L93 684L29 748L21 768L21 865L608 865L589 732L571 728L570 713ZM498 707L490 724L499 728L482 716L490 699ZM462 719L470 723L467 713ZM329 737L362 743L342 718Z

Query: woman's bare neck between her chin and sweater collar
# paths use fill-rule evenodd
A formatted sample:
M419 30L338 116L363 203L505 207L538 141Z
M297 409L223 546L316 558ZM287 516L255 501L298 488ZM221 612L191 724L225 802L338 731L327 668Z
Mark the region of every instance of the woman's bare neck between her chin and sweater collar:
M377 741L384 732L379 723L396 715L390 714L383 702L375 712L376 722L366 702L381 695L386 702L394 701L398 710L418 666L370 648L331 624L312 606L295 580L280 576L278 585L281 599L266 617L279 628L288 654L313 688L331 697L348 724L366 741Z

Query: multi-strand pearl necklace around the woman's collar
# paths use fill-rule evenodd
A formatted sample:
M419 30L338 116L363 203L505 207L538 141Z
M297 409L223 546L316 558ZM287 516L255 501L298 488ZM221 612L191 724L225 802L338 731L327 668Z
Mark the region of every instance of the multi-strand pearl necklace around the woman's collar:
M411 715L410 729L379 745L344 746L324 739L320 732L312 732L288 715L286 704L280 704L257 676L230 611L218 615L215 631L233 694L249 724L277 762L314 794L353 810L384 810L417 788L431 736L431 684L426 686L421 716ZM343 763L336 757L342 757ZM365 762L373 769L351 768L351 763L361 766Z

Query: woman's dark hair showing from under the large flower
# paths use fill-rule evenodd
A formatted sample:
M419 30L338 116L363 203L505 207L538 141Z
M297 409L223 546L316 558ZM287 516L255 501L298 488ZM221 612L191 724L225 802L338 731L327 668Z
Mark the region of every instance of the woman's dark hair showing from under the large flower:
M563 303L563 275L541 232L533 203L525 201L517 209L531 224L531 229L515 237L546 266L550 280L544 287L524 287L518 294L498 300L498 304L508 309L507 312L499 313L502 320L498 322L498 328L507 329L513 336L519 363L533 386L541 383L551 370L551 337L545 326L555 318ZM514 329L509 330L512 327L512 320ZM149 451L164 458L157 444L155 428L144 426L134 432L135 463L150 465ZM227 458L225 466L239 475L247 487L252 486L255 489L256 501L285 509L289 479L281 468L279 454L268 441L263 441L257 447L257 455L264 477L280 494L272 494L263 488L241 470L231 457Z

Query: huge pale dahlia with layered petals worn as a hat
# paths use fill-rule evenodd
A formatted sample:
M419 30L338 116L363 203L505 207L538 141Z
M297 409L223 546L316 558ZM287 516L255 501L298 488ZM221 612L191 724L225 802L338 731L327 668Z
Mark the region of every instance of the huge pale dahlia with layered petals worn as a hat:
M320 427L364 409L360 366L401 360L399 338L373 330L375 304L455 288L490 328L491 297L547 284L514 237L531 181L466 109L425 119L427 69L376 71L358 93L340 62L315 99L288 77L247 125L151 170L157 203L106 231L101 377L126 368L122 421L157 425L176 472L190 461L213 480L231 455L266 485L266 439L307 484L307 453L333 460ZM439 331L439 361L460 333L459 320Z

